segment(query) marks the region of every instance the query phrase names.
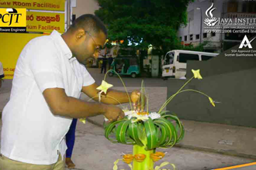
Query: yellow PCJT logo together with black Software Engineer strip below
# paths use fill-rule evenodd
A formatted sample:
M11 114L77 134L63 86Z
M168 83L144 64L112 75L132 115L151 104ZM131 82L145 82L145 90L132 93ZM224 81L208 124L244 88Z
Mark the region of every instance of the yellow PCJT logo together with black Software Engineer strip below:
M0 8L0 32L26 32L26 8Z

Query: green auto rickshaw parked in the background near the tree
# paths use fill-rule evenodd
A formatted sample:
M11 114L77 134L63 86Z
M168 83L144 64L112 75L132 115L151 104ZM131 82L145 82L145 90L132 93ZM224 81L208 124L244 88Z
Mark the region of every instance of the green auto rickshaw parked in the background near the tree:
M140 74L140 66L137 57L133 56L116 56L111 64L111 69L119 75L130 75L133 78ZM109 76L116 74L114 71L109 72Z

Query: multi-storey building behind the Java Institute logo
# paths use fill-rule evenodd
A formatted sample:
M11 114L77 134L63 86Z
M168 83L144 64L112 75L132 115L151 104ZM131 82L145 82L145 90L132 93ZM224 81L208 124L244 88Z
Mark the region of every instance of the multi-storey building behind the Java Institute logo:
M251 30L256 26L256 1L195 0L187 12L188 24L178 30L185 46L207 41L205 51L220 53L237 45L244 35L255 36Z

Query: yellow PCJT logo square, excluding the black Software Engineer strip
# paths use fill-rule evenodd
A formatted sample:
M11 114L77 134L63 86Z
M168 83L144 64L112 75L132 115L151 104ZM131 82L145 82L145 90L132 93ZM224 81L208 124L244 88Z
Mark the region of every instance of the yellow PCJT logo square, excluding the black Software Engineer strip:
M26 8L0 8L0 27L26 27Z

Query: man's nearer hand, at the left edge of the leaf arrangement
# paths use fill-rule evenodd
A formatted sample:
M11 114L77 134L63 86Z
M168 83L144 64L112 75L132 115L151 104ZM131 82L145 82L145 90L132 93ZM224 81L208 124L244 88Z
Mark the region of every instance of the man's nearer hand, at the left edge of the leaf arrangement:
M119 121L119 120L123 119L124 113L123 113L123 110L121 110L119 107L112 106L112 105L106 105L104 116L107 119L109 119L108 122Z

